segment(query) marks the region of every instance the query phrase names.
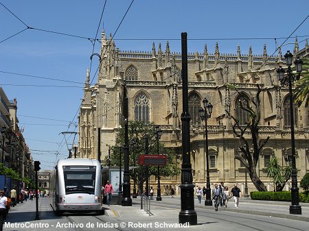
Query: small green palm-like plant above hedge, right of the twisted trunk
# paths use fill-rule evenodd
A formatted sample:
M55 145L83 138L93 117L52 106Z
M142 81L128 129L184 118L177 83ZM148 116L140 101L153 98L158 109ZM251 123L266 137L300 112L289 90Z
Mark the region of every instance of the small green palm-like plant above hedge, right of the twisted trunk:
M286 182L290 180L290 175L292 175L292 166L280 166L278 158L275 156L269 161L269 166L266 167L266 171L267 176L273 179L275 191L282 191L286 185Z

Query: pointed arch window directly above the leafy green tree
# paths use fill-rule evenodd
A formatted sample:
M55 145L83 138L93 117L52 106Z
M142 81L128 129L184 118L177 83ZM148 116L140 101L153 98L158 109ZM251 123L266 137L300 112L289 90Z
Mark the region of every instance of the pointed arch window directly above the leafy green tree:
M145 93L139 93L134 101L135 121L149 123L150 101Z

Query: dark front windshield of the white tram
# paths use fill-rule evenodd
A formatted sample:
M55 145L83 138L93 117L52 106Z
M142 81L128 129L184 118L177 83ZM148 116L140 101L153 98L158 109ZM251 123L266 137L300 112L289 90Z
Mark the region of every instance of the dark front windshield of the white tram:
M95 192L95 169L88 170L65 170L65 193L88 193Z

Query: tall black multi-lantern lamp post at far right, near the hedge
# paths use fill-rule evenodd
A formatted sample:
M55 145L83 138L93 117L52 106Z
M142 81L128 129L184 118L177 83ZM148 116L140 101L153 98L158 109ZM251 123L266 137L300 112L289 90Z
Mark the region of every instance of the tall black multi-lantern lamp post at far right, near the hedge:
M292 143L292 188L291 191L291 205L290 205L290 214L301 214L301 206L299 206L299 188L297 187L297 169L296 169L296 160L295 160L295 136L294 136L294 110L293 110L293 95L292 95L292 84L295 80L299 80L300 73L303 68L303 61L297 56L294 64L298 75L293 74L291 65L293 60L293 54L290 51L287 51L284 55L286 64L288 65L288 70L286 71L287 75L284 76L284 69L282 66L279 66L277 73L279 75L279 80L282 86L288 86L289 97L290 97L290 138Z

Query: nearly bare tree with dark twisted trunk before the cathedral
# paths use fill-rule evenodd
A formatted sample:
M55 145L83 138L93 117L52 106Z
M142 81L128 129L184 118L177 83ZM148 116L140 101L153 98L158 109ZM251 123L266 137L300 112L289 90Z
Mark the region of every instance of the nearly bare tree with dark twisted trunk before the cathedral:
M233 134L240 140L240 151L236 152L235 158L240 160L240 162L242 162L242 164L248 169L251 181L258 191L267 191L266 186L262 180L260 180L255 170L255 167L258 164L260 151L269 139L268 136L266 139L262 140L259 136L258 125L261 119L260 93L262 93L263 88L261 88L258 84L256 84L256 86L258 88L256 96L250 97L249 99L243 92L239 92L235 86L229 86L238 92L240 95L240 108L249 115L249 120L245 123L245 125L241 125L239 119L234 117L228 110L225 111L234 121L232 126ZM245 137L247 132L250 132L250 138Z

